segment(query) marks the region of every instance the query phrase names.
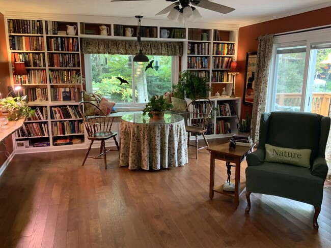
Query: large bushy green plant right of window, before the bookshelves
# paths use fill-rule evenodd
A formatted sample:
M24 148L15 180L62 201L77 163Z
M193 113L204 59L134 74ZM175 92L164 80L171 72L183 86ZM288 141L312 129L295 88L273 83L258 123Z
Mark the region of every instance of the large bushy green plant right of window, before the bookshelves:
M194 100L200 97L208 97L211 87L206 83L204 77L197 76L194 71L186 70L180 73L177 85L173 86L173 96L184 99Z

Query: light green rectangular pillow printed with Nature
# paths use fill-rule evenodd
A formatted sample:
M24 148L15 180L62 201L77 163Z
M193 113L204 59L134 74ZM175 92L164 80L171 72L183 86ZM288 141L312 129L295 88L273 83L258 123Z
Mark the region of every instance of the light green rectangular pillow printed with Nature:
M265 144L264 161L309 168L311 152L311 149L292 149Z

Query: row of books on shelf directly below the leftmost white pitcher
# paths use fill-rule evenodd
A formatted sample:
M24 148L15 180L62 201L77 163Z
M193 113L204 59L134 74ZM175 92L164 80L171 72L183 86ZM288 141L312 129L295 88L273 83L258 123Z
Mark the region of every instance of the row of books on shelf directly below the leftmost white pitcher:
M47 38L47 50L76 52L78 51L78 39L71 37Z

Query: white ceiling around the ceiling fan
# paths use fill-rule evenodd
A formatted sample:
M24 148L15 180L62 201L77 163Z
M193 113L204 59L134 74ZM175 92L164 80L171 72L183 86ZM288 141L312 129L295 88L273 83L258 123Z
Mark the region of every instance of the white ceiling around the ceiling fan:
M217 4L235 8L228 14L197 8L200 22L245 26L293 14L331 6L330 0L213 0ZM171 5L166 0L112 2L111 0L0 0L0 12L78 14L113 17L142 15L146 19L167 20L167 14L156 13Z

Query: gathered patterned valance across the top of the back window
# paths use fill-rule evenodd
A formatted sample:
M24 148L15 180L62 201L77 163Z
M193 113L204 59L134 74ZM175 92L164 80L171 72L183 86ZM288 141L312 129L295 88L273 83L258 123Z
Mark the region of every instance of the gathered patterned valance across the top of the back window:
M137 41L118 41L81 38L81 52L89 54L136 54L139 52ZM182 42L143 41L143 53L146 55L182 56Z

